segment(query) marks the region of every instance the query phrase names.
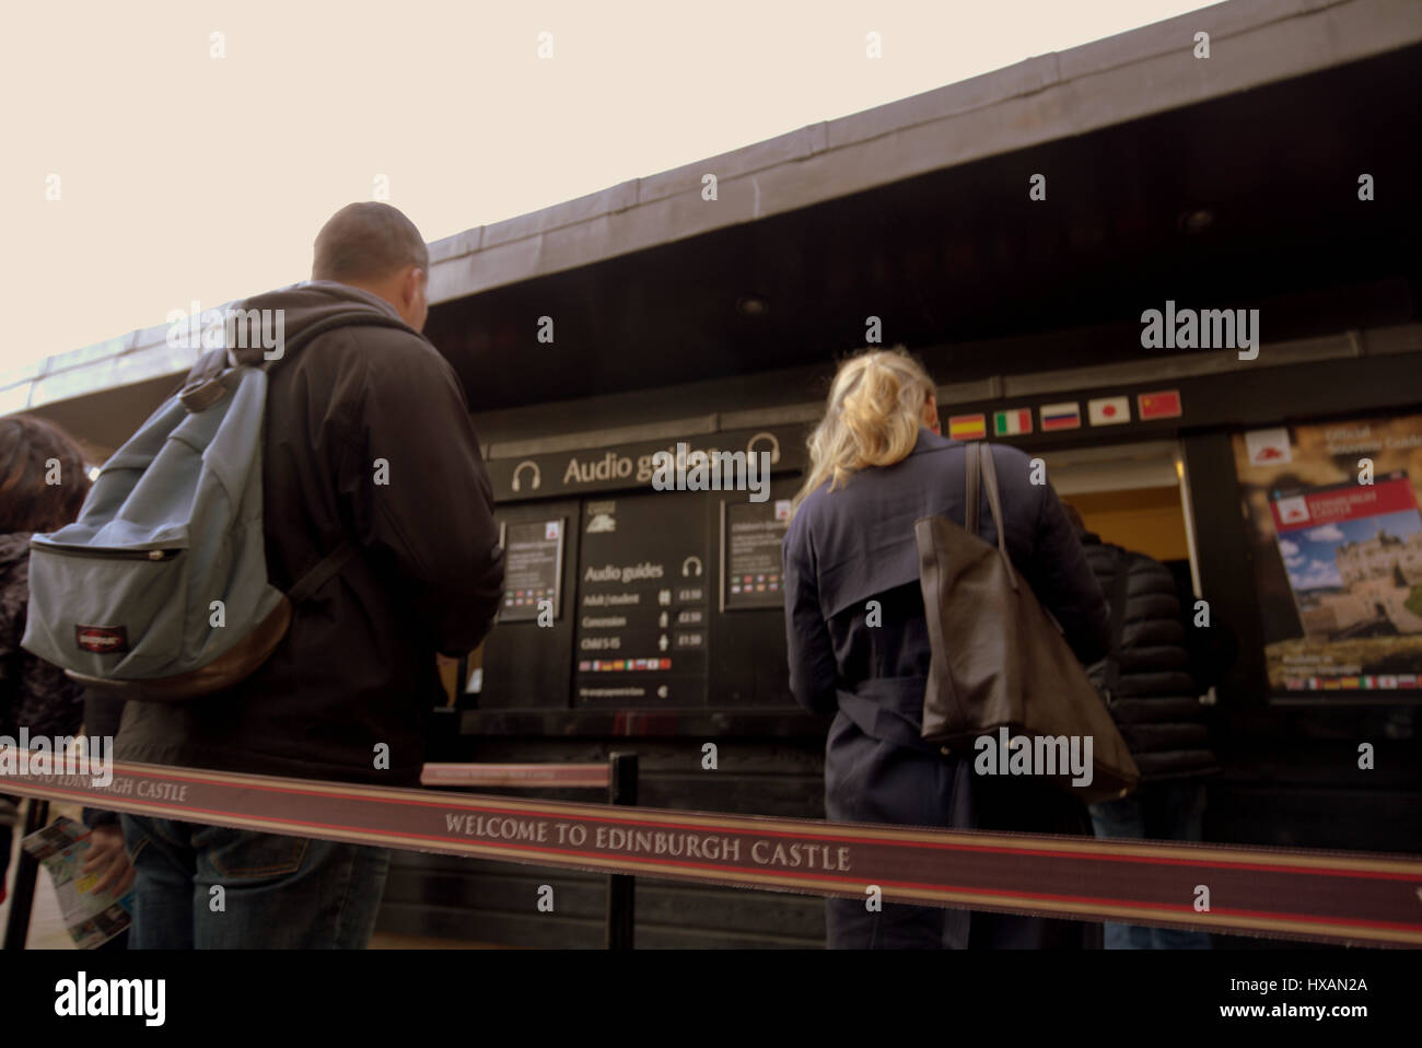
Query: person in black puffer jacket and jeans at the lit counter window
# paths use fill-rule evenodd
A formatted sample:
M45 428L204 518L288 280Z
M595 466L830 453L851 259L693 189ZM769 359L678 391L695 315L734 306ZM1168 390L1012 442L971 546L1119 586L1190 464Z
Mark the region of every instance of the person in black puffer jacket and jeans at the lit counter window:
M1091 667L1112 718L1140 769L1128 798L1091 806L1099 838L1200 840L1203 776L1219 771L1204 725L1202 691L1192 673L1187 626L1170 570L1088 532L1074 506L1066 513L1086 560L1112 606L1111 651ZM1207 950L1203 931L1106 924L1108 950Z

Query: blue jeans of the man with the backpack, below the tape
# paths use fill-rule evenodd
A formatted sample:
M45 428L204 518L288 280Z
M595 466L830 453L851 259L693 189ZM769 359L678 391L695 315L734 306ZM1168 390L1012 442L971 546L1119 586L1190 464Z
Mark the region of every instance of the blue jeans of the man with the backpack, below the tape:
M132 950L370 943L390 849L137 815L122 820L137 875Z

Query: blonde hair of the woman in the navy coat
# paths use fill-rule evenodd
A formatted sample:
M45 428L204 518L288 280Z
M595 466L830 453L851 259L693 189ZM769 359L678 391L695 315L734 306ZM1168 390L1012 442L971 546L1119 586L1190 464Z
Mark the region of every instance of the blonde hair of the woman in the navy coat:
M793 508L825 481L835 491L865 466L907 458L933 392L929 373L903 347L865 350L845 360L829 387L825 418L806 441L811 466Z

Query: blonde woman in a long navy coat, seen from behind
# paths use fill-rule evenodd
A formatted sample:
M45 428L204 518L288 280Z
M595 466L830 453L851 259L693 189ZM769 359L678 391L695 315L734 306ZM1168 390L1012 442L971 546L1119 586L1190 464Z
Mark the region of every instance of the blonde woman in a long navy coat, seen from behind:
M913 522L963 522L964 451L939 434L933 381L902 350L840 364L811 468L785 536L791 691L835 714L825 748L825 811L835 822L890 822L1091 836L1085 806L1028 776L977 776L971 759L920 738L931 658ZM1065 630L1078 658L1106 653L1111 616L1081 542L1028 458L993 445L1007 549ZM983 501L980 535L995 545ZM877 601L870 624L869 601ZM1099 947L1101 926L859 900L828 903L832 948Z

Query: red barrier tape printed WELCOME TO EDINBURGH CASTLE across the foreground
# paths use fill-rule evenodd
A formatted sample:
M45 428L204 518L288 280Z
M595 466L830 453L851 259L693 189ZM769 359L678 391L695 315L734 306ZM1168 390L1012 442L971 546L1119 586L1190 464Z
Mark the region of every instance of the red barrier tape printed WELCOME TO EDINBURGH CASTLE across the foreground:
M859 900L876 886L886 903L1422 946L1422 856L555 803L118 761L112 772L95 786L21 768L0 774L0 792L596 873Z

